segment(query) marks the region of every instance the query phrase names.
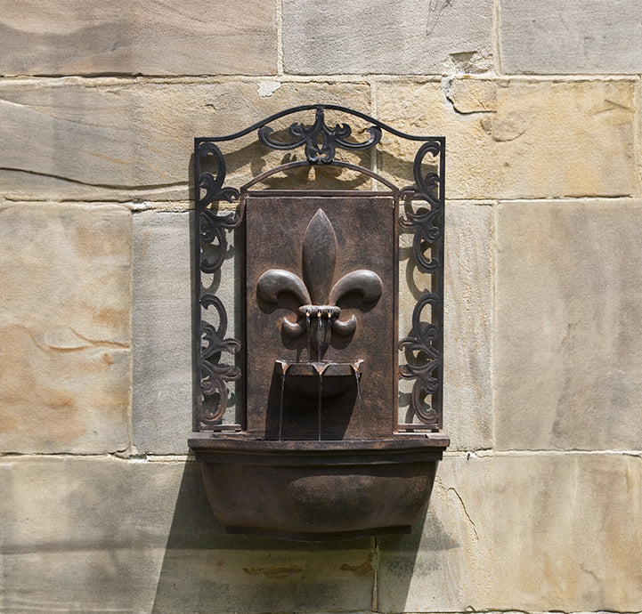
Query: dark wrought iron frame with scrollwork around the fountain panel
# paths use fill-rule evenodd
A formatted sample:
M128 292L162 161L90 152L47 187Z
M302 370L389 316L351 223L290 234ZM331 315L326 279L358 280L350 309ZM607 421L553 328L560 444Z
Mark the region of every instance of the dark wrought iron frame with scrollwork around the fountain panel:
M313 110L312 125L294 123L289 126L290 141L278 141L272 138L270 123L281 117ZM337 124L330 127L325 123L325 110L338 111L370 123L366 130L370 138L366 141L349 141L352 128L348 124ZM240 190L225 186L226 166L223 152L216 143L234 141L256 130L257 140L266 147L277 150L290 150L304 147L305 161L290 162L277 166L255 177L244 188L247 189L262 178L280 170L296 166L329 165L342 166L358 170L391 186L383 177L362 166L335 160L338 149L363 150L378 145L382 131L391 133L409 141L422 144L414 158L414 183L399 190L400 198L405 201L423 201L426 207L416 212L406 211L400 216L399 224L404 230L413 230L412 250L419 271L426 273L432 280L431 291L423 293L412 313L412 330L409 336L399 341L399 349L406 351L406 360L399 368L399 377L414 381L411 396L411 408L419 419L416 423L400 423L396 412L394 428L397 432L414 432L421 430L438 431L443 425L443 224L444 224L444 176L445 176L445 137L418 136L403 133L390 125L378 121L365 113L348 109L335 104L310 104L284 109L256 124L237 133L214 137L197 137L194 139L194 201L196 215L194 219L194 330L195 361L197 373L196 429L198 431L240 431L245 428L240 424L222 424L227 408L227 383L240 379L242 367L226 364L223 353L236 354L241 350L239 339L226 338L227 311L223 301L217 295L203 291L201 272L215 274L221 270L227 252L227 233L240 226L243 211L217 214L210 208L216 201L233 203L240 200ZM201 172L201 159L213 156L216 163L215 174ZM438 158L438 170L424 173L422 164L427 156ZM203 193L204 192L204 193ZM361 191L360 191L361 193ZM365 192L363 192L365 193ZM337 195L340 191L337 190ZM214 260L208 260L203 253L203 245L209 245L210 251L215 246ZM430 255L427 256L429 250ZM214 308L218 325L208 323L202 317L202 310ZM422 321L424 310L430 310L429 321ZM203 405L206 397L217 397L217 407L210 411ZM430 403L425 398L430 397Z

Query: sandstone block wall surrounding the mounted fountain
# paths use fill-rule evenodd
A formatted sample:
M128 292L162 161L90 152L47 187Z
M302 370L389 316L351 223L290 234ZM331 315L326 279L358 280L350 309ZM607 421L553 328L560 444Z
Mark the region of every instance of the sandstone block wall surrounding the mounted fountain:
M0 0L0 611L642 610L641 22ZM188 456L192 138L315 101L447 137L452 445L408 537L227 536Z

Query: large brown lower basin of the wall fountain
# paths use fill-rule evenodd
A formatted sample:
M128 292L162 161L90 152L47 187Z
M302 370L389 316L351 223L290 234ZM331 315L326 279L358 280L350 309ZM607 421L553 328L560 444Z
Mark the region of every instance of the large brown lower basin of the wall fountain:
M268 441L192 433L207 499L230 533L325 541L408 533L449 439Z

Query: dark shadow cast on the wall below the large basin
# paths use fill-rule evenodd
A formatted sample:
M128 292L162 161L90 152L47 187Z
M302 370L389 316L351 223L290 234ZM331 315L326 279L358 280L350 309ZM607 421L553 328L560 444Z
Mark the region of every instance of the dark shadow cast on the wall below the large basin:
M422 542L426 523L429 535ZM190 461L183 468L152 612L377 610L375 575L386 603L405 603L420 545L458 547L430 511L410 535L377 540L310 543L228 535L207 504L199 463Z

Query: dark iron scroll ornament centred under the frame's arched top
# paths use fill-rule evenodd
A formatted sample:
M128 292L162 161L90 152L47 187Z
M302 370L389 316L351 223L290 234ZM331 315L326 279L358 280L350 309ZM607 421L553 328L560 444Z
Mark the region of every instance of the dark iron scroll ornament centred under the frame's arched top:
M305 158L310 164L329 164L335 158L337 147L357 151L374 147L381 141L381 128L378 125L367 128L367 132L370 133L370 139L367 141L346 141L352 134L352 128L347 124L337 124L330 128L325 123L323 107L316 109L313 125L295 123L289 126L288 133L294 137L292 141L275 141L270 136L272 132L269 125L264 125L258 130L258 140L272 149L296 149L305 145Z

